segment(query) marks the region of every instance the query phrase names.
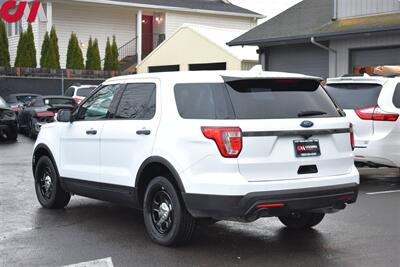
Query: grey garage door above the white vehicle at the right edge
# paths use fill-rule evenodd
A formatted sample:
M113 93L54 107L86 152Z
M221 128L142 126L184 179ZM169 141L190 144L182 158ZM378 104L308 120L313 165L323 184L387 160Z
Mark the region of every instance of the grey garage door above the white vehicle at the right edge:
M400 65L400 47L350 51L350 71L357 67Z

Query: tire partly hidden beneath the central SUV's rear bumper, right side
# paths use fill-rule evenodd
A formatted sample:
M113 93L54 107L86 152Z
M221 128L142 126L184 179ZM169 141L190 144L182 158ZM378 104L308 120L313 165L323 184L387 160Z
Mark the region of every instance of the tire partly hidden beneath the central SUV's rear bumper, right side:
M279 220L289 229L309 229L318 225L325 217L325 213L302 212L285 217Z

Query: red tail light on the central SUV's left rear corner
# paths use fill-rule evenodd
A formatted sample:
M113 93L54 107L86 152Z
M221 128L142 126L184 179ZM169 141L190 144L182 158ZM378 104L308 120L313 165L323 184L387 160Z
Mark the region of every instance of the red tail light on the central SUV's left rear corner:
M242 130L238 127L202 127L204 136L214 140L225 158L237 158L242 151Z

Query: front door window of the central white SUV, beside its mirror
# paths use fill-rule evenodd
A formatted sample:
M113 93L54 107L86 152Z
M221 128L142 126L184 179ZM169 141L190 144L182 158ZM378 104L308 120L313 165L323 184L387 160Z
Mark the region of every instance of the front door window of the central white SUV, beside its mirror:
M78 111L78 120L102 120L110 115L110 106L119 84L106 85L89 98Z

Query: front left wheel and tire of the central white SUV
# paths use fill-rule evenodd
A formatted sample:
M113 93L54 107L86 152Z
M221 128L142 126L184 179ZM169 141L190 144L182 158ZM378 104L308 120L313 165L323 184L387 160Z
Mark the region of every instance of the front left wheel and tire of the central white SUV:
M36 164L35 191L39 203L46 209L62 209L71 199L71 194L61 187L54 164L47 156L42 156Z

